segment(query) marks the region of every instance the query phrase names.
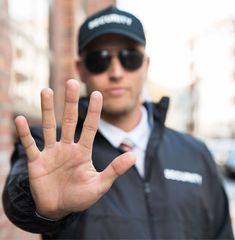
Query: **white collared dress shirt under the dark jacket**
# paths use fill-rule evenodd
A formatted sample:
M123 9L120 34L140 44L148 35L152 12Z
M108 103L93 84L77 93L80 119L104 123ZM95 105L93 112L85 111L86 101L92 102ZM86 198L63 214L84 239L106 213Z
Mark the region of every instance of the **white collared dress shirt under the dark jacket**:
M144 177L145 151L151 133L151 127L148 122L148 113L145 107L141 108L140 122L131 131L125 132L103 119L100 120L99 131L116 148L118 148L125 139L128 139L128 141L133 144L132 152L136 155L135 166L140 176Z

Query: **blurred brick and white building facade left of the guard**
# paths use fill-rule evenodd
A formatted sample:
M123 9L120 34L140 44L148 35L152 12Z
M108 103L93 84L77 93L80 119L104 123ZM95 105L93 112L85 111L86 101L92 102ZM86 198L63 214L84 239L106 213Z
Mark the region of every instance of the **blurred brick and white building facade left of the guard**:
M0 1L1 194L16 137L14 117L23 114L30 124L39 123L39 94L42 88L50 86L55 93L56 118L60 121L65 83L77 78L74 64L77 28L86 15L111 3L116 1ZM24 9L29 9L28 16L18 16ZM39 9L42 14L38 14ZM15 227L5 216L1 203L0 239L40 237Z

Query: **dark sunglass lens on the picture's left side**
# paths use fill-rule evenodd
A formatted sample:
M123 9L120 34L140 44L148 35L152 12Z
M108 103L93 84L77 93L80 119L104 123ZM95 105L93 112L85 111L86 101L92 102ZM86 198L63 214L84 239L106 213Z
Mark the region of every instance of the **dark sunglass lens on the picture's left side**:
M107 50L89 53L85 58L87 69L92 73L104 72L110 64L111 56Z

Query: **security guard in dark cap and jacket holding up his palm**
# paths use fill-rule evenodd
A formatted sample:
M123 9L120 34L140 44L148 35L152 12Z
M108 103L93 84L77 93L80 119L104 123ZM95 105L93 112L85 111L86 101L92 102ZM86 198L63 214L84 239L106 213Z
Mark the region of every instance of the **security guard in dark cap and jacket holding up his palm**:
M31 136L16 118L9 219L44 239L233 239L206 146L164 126L166 98L141 102L149 65L141 22L108 7L82 24L78 46L89 103L81 99L78 114L79 85L69 80L61 129L50 89L41 93L42 131Z

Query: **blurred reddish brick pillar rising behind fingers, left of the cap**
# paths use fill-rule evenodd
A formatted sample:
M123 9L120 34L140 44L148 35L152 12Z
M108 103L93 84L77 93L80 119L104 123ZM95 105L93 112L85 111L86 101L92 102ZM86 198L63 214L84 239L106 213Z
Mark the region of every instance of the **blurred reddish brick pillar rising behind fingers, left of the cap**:
M64 86L75 78L75 0L53 1L50 15L51 76L54 89L56 118L60 122L63 112Z

